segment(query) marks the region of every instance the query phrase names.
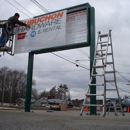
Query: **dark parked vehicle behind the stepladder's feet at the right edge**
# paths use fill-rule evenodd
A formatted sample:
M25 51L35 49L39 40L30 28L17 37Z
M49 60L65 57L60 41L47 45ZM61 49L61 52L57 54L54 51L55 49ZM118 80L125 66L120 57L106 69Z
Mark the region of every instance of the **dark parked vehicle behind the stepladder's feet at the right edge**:
M110 105L110 103L111 103L111 105ZM106 103L106 107L107 107L106 111L109 110L109 106L110 106L110 111L114 111L114 108L111 107L111 106L113 106L114 103L117 106L117 110L120 110L120 108L119 108L119 99L114 98L114 99L110 99ZM130 107L130 99L121 99L121 103L122 103L123 111L127 112L128 107Z

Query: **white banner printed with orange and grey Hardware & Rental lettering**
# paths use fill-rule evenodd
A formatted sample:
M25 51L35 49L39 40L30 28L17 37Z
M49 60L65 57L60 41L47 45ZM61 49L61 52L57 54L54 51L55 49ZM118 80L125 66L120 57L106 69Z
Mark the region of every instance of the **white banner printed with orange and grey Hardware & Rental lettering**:
M66 44L66 10L23 22L31 28L18 28L14 54Z

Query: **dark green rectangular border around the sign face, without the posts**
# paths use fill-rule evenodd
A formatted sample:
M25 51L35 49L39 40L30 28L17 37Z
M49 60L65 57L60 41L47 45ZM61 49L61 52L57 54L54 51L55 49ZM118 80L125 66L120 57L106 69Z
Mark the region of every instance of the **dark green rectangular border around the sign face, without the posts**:
M90 8L90 4L89 3L85 3L85 4L81 4L81 5L77 5L77 6L73 6L73 7L69 7L69 8L65 8L65 9L62 9L62 10L57 10L57 11L54 11L54 12L49 12L45 15L48 15L48 14L51 14L51 13L55 13L55 12L59 12L59 11L63 11L63 10L67 10L67 14L69 13L73 13L73 12L78 12L78 11L81 11L81 10L86 10L87 12L87 42L80 42L80 43L72 43L72 44L68 44L68 45L62 45L62 46L56 46L56 47L49 47L49 48L44 48L44 49L38 49L38 50L32 50L31 53L34 53L34 54L41 54L41 53L47 53L47 52L54 52L54 51L61 51L61 50L68 50L68 49L75 49L75 48L80 48L80 47L87 47L87 46L90 46L90 41L89 41L89 19L90 19L90 16L89 16L89 10L88 8ZM39 16L36 16L34 18L37 18L37 17L40 17L40 16L43 16L43 15L39 15Z

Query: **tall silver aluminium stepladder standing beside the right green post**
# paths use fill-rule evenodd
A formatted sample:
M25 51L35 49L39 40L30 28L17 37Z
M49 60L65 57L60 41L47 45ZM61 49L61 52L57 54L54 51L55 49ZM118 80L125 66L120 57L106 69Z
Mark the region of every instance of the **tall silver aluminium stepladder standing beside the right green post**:
M96 84L93 84L92 82L94 78L96 78ZM96 93L90 92L90 89L93 86L96 86ZM91 99L92 96L96 96L96 100L100 99L101 102L96 104L88 103L88 97ZM124 116L116 81L111 30L109 30L107 34L101 34L101 32L98 32L90 81L81 107L80 115L83 114L85 107L95 106L96 108L101 108L102 115L105 117L108 107L106 101L109 98L115 97L119 100L118 107L120 107L120 112ZM118 115L115 105L113 107L115 115Z

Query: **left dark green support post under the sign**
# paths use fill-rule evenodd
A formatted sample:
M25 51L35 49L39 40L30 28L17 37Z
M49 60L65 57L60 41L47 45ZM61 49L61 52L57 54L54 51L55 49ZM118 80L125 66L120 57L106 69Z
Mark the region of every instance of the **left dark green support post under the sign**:
M34 59L34 53L30 52L28 55L28 73L27 73L27 85L26 85L25 112L30 112L30 106L31 106L33 59Z

